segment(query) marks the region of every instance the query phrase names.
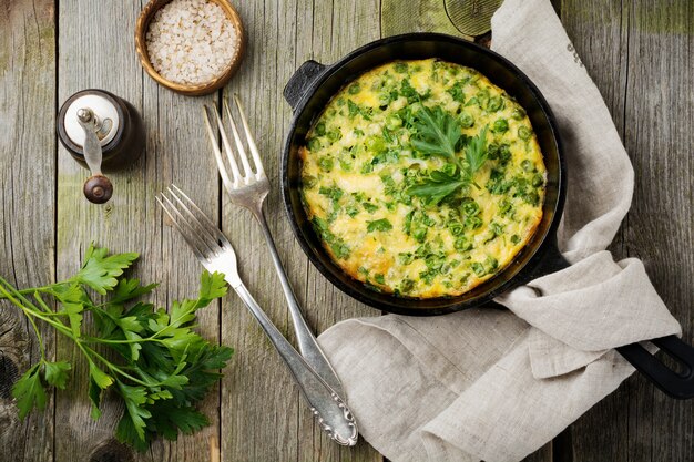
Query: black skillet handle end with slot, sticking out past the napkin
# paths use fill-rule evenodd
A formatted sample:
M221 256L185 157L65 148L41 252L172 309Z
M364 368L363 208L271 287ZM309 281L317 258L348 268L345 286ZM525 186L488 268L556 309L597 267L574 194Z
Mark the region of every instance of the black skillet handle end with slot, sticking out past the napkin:
M681 370L672 370L639 343L625 345L616 350L664 393L681 400L694 398L694 347L675 336L651 342L676 360Z

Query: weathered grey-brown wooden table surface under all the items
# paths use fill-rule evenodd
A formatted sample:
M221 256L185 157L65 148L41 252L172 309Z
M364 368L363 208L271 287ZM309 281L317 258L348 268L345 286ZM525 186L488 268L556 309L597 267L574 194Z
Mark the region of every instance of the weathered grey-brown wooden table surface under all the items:
M439 0L437 0L438 3ZM385 0L384 0L385 2ZM295 242L280 206L278 153L292 114L282 90L308 59L333 62L381 34L379 0L236 0L248 49L239 73L216 94L192 99L157 86L134 51L145 0L2 0L0 4L0 274L38 286L72 275L90 242L140 251L136 275L161 281L155 301L194 295L201 268L165 226L154 195L175 182L215 214L234 242L252 291L293 338L284 298L259 229L222 194L201 124L201 105L238 92L259 143L273 192L271 227L309 325L375 312L335 289ZM633 206L612 246L639 257L656 289L694 333L694 6L691 0L554 1L575 50L600 88L636 174ZM415 12L412 14L416 14ZM54 134L60 104L89 88L132 102L147 126L147 148L112 176L105 206L81 196L82 170ZM201 330L236 353L204 402L212 425L133 453L112 439L121 409L89 417L85 367L67 340L43 329L50 355L76 362L71 386L44 412L20 422L9 388L38 355L24 319L0 307L0 460L206 461L208 439L224 461L381 461L366 442L344 449L316 428L297 388L235 296L202 314ZM694 401L674 401L639 374L630 378L534 462L692 461Z

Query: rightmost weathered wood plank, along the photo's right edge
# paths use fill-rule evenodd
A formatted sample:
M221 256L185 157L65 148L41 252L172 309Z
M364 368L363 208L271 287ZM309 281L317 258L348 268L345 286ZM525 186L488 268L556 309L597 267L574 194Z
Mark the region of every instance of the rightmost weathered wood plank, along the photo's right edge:
M625 144L636 174L625 226L630 256L694 341L694 6L630 9ZM655 238L654 238L655 237ZM694 402L674 401L642 378L630 400L630 461L684 462L694 454ZM635 419L634 417L637 417ZM644 444L647 441L647 444Z

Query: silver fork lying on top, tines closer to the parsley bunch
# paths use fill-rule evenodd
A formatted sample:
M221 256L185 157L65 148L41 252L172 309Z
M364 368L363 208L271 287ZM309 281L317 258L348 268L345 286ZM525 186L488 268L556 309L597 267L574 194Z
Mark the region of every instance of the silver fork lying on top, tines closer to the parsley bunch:
M310 404L320 428L339 444L356 444L357 425L347 404L292 347L248 292L238 275L236 253L226 236L175 185L167 188L167 194L157 195L156 201L205 269L223 273L225 280L261 324Z

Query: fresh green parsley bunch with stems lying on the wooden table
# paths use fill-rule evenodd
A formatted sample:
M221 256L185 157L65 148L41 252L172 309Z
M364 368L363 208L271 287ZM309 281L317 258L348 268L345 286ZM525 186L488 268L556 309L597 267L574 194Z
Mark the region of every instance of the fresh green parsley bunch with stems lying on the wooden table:
M175 440L178 431L191 433L208 424L195 409L222 377L233 350L210 343L193 331L195 311L226 294L221 274L203 273L197 299L174 301L169 312L134 299L156 285L143 286L127 279L123 270L137 254L109 255L105 248L90 246L84 264L68 280L18 290L0 277L0 298L8 299L27 317L37 335L41 357L14 383L19 417L35 407L45 408L47 386L64 389L72 366L50 361L37 320L72 340L89 367L91 415L99 419L104 390L123 401L123 415L116 427L119 441L140 451L152 439ZM91 290L106 296L92 299ZM58 310L50 305L55 302ZM90 314L93 329L83 321Z

